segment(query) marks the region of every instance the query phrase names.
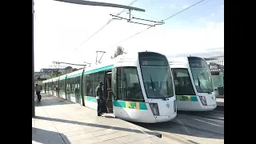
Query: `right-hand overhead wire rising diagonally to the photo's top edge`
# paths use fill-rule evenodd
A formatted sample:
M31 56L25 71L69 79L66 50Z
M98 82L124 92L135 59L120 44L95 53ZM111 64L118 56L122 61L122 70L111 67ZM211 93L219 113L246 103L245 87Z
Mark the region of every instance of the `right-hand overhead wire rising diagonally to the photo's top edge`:
M177 13L170 15L170 17L168 17L168 18L162 20L162 22L165 22L166 20L168 20L168 19L170 19L170 18L173 18L174 16L176 16L176 15L178 15L178 14L181 14L182 12L184 12L184 11L186 11L186 10L189 10L190 8L192 8L192 7L194 7L194 6L197 6L198 4L200 4L201 2L204 2L204 1L206 1L206 0L201 0L201 1L199 1L199 2L196 2L196 3L194 3L193 5L188 6L188 7L186 7L185 9L180 10L180 11L178 11ZM139 31L138 33L136 33L136 34L130 36L129 38L126 38L126 39L122 40L121 42L118 42L118 43L116 43L116 44L114 44L114 45L112 45L112 46L106 48L106 50L110 49L110 48L113 47L113 46L117 46L119 43L125 42L126 40L128 40L128 39L130 39L130 38L133 38L134 36L136 36L136 35L138 35L138 34L141 34L142 32L144 32L144 31L146 31L146 30L149 30L151 27L153 27L153 26L149 26L149 27L147 27L145 30Z

